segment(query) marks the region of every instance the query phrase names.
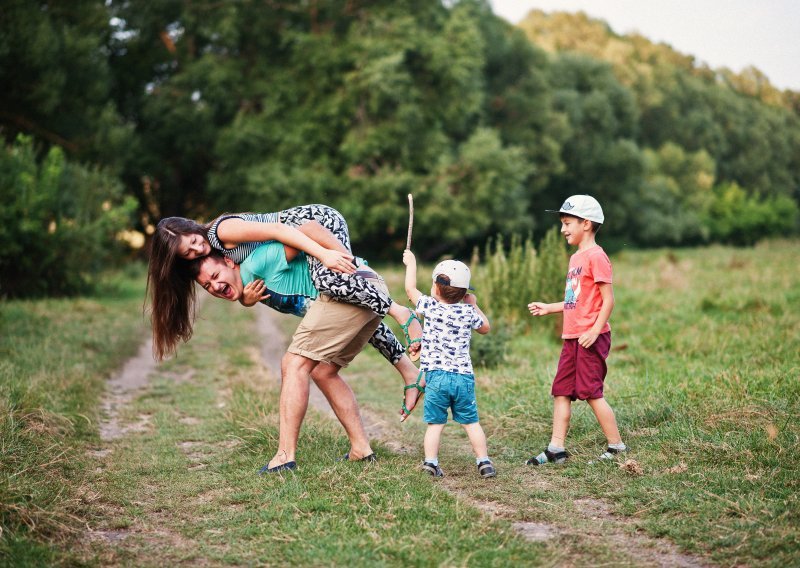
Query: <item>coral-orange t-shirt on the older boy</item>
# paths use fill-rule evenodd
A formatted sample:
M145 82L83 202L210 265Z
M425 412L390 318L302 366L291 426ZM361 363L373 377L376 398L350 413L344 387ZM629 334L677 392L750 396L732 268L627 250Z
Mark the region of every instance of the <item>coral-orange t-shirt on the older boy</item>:
M611 284L611 261L598 245L578 251L569 259L564 291L563 339L576 339L589 331L603 306L598 282ZM606 322L600 333L611 330Z

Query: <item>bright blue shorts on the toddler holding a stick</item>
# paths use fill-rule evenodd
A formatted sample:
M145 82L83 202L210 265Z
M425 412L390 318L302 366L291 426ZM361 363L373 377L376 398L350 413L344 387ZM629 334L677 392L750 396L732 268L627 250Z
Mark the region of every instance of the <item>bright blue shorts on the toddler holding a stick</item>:
M447 410L459 424L478 421L478 403L475 401L475 376L428 371L425 373L425 422L446 424Z

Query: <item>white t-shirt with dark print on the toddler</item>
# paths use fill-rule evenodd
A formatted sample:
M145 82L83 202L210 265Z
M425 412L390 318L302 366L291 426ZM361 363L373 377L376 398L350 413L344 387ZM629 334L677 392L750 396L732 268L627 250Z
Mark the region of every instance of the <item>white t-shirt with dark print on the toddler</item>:
M425 316L420 368L471 375L469 344L472 330L483 325L483 318L475 306L444 304L422 295L417 301L417 312Z

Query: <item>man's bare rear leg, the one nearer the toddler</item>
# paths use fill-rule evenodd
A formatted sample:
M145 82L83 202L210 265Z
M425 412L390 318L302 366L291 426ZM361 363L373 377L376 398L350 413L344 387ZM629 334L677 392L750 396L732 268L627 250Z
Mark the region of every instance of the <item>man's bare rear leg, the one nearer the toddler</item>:
M351 460L359 460L372 453L364 423L358 411L358 403L350 388L339 374L340 367L331 363L318 364L311 373L314 383L328 399L336 418L344 426L350 439Z

